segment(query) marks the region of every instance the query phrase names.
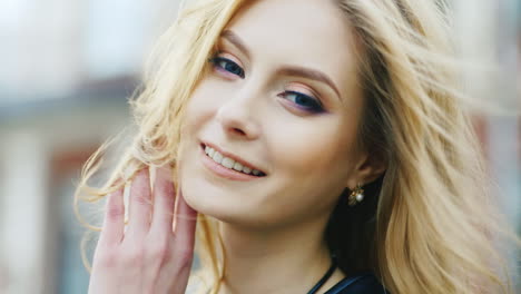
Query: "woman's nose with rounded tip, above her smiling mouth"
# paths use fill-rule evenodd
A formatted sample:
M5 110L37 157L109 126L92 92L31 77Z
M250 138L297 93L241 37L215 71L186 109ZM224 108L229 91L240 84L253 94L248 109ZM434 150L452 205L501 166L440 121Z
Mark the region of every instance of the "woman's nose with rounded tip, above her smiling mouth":
M220 105L216 119L226 135L248 140L256 139L260 135L256 107L258 108L258 104L253 92L244 89Z

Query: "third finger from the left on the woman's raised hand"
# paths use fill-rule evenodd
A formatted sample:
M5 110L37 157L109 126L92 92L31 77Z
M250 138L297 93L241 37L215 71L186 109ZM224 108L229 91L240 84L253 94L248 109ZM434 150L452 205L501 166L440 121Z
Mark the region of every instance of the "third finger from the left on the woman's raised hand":
M154 215L150 232L171 233L175 193L171 168L168 166L157 168L154 183Z

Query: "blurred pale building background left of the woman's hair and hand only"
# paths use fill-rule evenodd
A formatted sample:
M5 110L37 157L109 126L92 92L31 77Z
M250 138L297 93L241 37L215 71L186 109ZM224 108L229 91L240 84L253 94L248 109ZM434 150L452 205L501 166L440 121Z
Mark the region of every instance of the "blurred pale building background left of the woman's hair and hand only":
M0 2L0 293L86 293L80 167L130 124L127 98L178 1Z

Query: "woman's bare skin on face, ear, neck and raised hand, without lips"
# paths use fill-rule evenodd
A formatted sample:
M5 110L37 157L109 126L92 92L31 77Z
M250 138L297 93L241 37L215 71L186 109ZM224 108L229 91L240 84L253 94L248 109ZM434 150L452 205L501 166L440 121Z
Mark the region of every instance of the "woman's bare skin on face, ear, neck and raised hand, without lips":
M227 261L220 294L306 293L331 265L323 234L338 196L383 173L355 147L363 109L356 46L333 1L252 1L217 47L187 106L181 195L174 195L168 168L158 170L154 195L148 173L140 173L126 232L122 192L109 196L89 293L184 293L196 210L220 223ZM266 175L219 176L203 164L201 143ZM173 232L174 200L183 217ZM336 270L318 293L343 277Z

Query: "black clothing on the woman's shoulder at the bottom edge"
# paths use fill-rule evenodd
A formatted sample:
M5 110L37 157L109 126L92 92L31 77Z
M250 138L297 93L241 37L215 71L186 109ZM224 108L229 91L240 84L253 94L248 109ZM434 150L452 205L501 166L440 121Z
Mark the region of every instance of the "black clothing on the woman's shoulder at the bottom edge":
M372 273L347 276L325 294L391 294Z

